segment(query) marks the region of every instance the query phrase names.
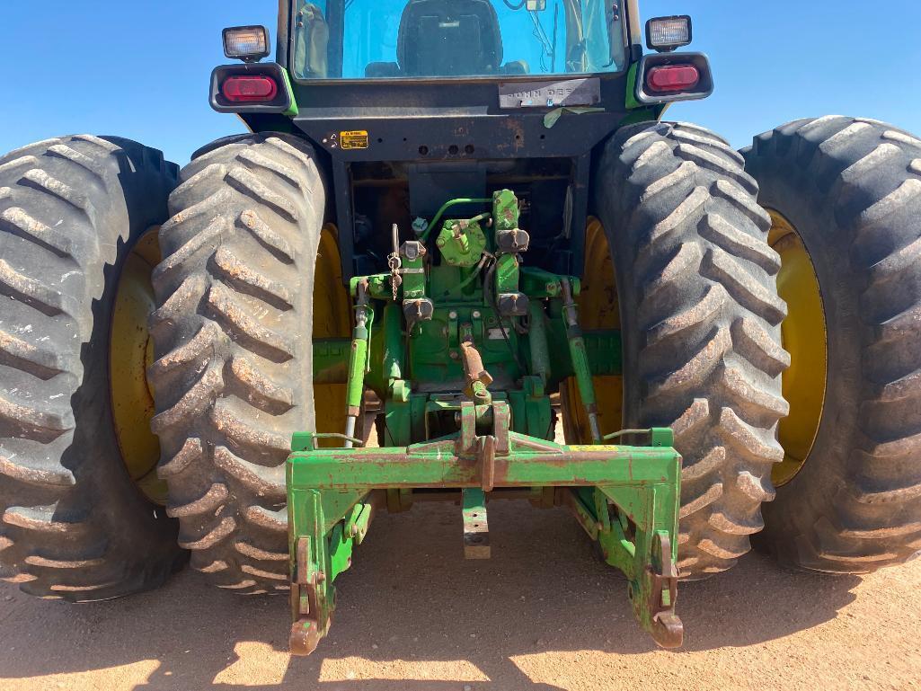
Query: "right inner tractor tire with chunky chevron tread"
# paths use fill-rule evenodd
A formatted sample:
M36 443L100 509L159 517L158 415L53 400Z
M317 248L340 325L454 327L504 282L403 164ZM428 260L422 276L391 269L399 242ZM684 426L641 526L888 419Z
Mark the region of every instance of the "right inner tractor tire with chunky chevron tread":
M595 199L620 304L623 426L674 429L684 579L749 551L784 455L775 430L787 414L787 308L757 191L740 155L694 125L625 127L600 157Z

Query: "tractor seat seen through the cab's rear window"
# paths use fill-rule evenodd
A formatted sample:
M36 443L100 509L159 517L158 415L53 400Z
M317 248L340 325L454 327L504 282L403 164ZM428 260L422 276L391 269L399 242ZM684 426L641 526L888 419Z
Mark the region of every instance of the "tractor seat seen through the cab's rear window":
M506 74L495 8L489 0L410 0L400 19L397 60L368 64L365 75ZM520 69L516 65L511 74Z

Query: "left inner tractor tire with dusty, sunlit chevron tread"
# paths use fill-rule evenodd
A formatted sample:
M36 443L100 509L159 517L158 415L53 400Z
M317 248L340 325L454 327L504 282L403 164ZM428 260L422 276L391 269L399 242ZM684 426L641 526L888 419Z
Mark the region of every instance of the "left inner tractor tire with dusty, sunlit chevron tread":
M192 566L219 587L286 590L285 461L292 433L315 424L321 175L296 137L248 135L180 178L151 320L169 514Z

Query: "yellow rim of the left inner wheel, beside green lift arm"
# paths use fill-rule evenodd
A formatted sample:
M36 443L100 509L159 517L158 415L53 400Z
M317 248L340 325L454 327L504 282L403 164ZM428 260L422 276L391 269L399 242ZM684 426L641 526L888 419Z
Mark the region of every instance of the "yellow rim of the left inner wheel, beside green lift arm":
M343 283L336 227L328 224L320 234L313 275L313 338L349 338L352 306ZM345 384L314 384L313 403L317 431L342 434L345 429ZM334 439L321 441L335 446Z

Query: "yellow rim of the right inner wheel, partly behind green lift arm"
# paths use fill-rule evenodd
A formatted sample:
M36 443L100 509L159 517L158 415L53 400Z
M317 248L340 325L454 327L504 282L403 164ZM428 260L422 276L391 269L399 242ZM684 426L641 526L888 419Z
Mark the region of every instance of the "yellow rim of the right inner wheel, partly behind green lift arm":
M577 298L579 323L584 330L620 329L621 312L614 282L614 264L608 238L597 218L589 218L585 237L585 272ZM624 427L624 378L593 377L601 434ZM579 398L575 377L560 386L563 428L568 443L590 443L589 418Z

